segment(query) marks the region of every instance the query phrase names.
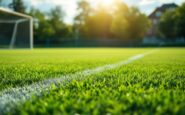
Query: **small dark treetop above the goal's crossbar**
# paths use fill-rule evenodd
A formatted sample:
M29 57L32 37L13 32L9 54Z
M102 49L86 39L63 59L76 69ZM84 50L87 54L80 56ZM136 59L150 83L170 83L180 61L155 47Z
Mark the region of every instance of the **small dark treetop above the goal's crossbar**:
M25 6L22 0L12 0L12 3L9 5L14 11L25 13Z

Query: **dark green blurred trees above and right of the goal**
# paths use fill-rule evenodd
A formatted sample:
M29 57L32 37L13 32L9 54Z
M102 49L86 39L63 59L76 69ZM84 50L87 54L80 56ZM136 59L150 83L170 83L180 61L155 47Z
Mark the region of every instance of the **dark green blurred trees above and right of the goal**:
M12 0L8 5L0 0L0 6L9 7L34 18L34 42L36 43L52 44L60 42L61 39L74 38L73 26L64 22L65 12L60 6L53 7L49 12L42 12L34 7L28 10L23 0Z

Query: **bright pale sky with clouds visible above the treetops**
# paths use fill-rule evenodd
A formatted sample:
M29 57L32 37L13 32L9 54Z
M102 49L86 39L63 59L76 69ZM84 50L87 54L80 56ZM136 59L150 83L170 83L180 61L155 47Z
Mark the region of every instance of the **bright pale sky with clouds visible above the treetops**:
M6 0L8 1L8 0ZM72 23L73 18L77 14L77 1L78 0L24 0L27 7L34 6L42 11L49 11L54 6L61 6L66 13L65 22ZM88 0L94 7L100 2L111 6L114 0ZM129 6L136 6L141 12L149 15L156 7L161 6L164 3L176 3L181 5L185 0L123 0Z

